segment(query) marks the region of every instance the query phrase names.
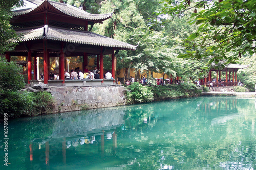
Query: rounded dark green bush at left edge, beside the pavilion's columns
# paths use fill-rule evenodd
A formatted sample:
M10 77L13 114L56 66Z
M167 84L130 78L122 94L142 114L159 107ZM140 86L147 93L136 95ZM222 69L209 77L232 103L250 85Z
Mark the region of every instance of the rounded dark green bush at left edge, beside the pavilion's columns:
M20 74L22 67L13 61L0 59L0 88L2 91L20 90L25 86L24 78ZM1 91L0 90L0 91Z

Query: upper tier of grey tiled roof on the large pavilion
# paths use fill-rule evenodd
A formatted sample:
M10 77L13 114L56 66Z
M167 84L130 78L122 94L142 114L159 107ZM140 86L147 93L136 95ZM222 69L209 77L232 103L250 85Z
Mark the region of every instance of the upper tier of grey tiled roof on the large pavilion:
M29 0L25 0L25 3L29 3ZM39 3L40 2L40 3ZM31 2L30 2L31 4ZM40 11L42 8L48 7L52 8L52 10L57 10L63 14L73 16L76 18L81 18L81 19L87 19L87 20L105 20L108 18L111 18L113 13L109 14L90 14L86 11L83 11L79 8L76 8L74 6L68 5L68 4L63 4L63 3L58 3L58 2L53 2L49 0L43 0L43 1L33 1L34 6L31 6L31 8L24 8L20 7L18 9L13 10L13 16L18 16L18 15L24 15L28 14L33 11Z

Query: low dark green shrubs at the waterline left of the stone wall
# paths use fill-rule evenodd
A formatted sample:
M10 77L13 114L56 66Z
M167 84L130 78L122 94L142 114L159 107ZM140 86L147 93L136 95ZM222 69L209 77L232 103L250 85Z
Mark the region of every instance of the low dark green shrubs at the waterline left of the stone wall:
M34 116L51 111L53 97L49 92L7 91L0 94L0 116Z

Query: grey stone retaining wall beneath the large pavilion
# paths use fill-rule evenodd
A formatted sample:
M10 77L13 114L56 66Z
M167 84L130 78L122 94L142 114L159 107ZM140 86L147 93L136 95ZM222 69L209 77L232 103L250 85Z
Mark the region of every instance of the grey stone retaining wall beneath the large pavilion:
M123 86L51 87L53 113L104 108L126 104Z

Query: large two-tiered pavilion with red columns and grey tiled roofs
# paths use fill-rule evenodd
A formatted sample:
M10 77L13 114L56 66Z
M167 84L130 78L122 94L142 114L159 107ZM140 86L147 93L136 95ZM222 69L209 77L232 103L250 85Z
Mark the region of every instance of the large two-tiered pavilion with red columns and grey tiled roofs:
M103 80L103 55L112 55L112 75L115 79L115 55L119 50L136 50L135 45L121 42L91 32L95 23L111 18L109 14L90 14L68 4L49 0L25 0L24 6L13 10L11 25L22 40L15 49L6 52L11 56L28 57L28 84L37 82L38 57L44 58L44 83L49 84L50 57L59 57L59 85L65 85L65 57L83 56L83 67L88 65L88 56L97 56L100 82ZM90 28L89 28L90 26ZM32 57L34 57L34 80L32 80ZM84 69L84 68L83 68ZM67 80L66 80L67 81ZM113 81L112 81L113 82ZM112 83L113 84L113 83Z

